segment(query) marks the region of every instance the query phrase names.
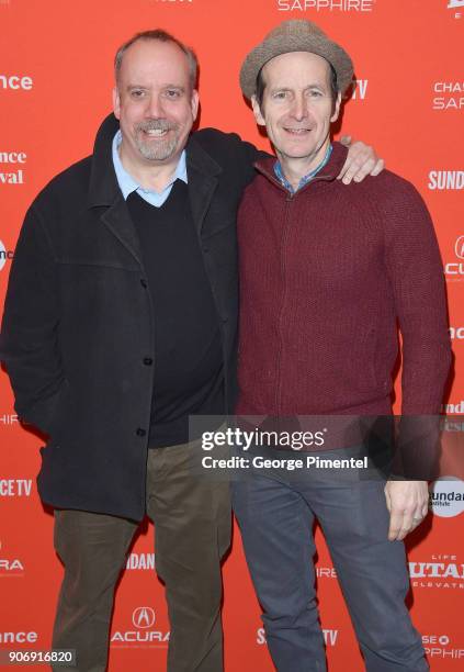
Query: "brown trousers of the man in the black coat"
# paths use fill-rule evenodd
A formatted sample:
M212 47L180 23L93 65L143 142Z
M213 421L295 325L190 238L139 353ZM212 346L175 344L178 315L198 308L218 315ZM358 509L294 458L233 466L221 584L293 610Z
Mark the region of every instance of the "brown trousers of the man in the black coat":
M199 449L185 444L148 451L147 515L166 584L169 672L223 670L220 560L230 544L229 483L192 474L192 450ZM114 587L136 529L115 516L55 512L65 578L53 648L77 650L76 672L106 670Z

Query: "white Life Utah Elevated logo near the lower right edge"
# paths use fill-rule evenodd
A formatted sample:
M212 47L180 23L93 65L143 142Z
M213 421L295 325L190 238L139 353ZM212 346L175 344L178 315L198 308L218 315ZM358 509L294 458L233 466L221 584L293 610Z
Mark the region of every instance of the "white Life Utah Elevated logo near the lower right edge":
M462 590L464 587L464 564L457 556L433 553L428 562L409 562L412 587Z

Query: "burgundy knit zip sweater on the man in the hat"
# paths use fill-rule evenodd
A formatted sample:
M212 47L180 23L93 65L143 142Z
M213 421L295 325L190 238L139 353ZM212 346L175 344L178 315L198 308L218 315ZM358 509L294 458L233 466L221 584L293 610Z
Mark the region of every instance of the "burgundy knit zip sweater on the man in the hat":
M435 414L451 361L443 269L416 189L329 163L291 195L256 165L239 220L237 413L383 415L403 338L403 414Z

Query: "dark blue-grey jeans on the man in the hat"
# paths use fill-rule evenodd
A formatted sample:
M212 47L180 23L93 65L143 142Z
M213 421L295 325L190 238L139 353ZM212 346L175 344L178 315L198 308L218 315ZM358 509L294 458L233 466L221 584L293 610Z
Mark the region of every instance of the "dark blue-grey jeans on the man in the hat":
M290 451L291 452L291 451ZM338 452L338 451L337 451ZM282 455L282 451L280 451ZM321 457L335 457L327 451ZM302 457L291 455L287 457ZM233 484L248 567L279 672L326 670L312 562L318 519L370 672L428 670L405 597L405 548L388 541L384 481L258 472ZM348 665L349 668L349 665Z

